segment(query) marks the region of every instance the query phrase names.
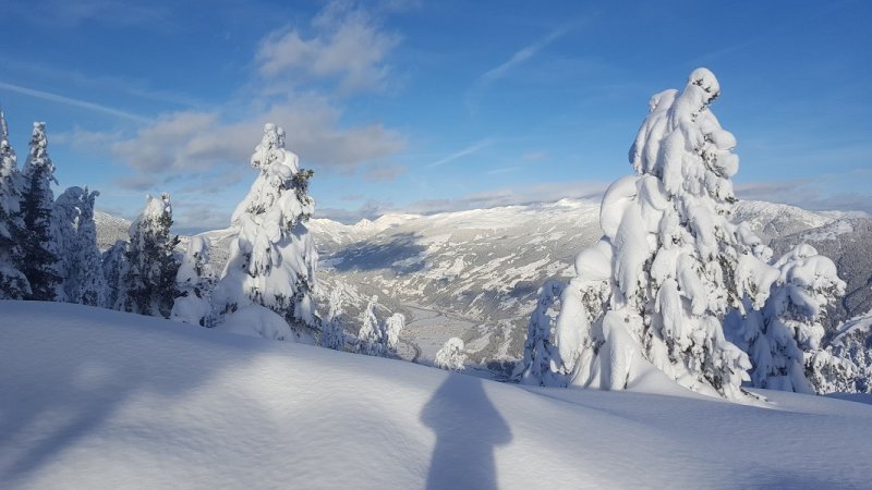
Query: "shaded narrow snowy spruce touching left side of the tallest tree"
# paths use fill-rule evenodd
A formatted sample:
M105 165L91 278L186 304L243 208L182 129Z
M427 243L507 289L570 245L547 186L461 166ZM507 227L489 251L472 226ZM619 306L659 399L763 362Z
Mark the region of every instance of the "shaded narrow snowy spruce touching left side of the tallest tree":
M559 355L552 344L554 317L552 311L559 302L564 284L557 280L548 280L538 290L536 309L526 326L524 358L513 378L524 384L558 385L561 380L557 372Z

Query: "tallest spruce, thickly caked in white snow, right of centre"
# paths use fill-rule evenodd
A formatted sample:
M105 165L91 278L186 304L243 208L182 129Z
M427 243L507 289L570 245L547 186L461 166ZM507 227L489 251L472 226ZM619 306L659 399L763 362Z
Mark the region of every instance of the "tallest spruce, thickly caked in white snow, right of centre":
M666 90L630 149L635 175L603 197L604 236L576 259L555 344L566 383L621 390L652 367L691 390L746 396L748 356L724 338L742 299L760 308L778 271L749 226L730 222L736 139L708 105L705 69ZM562 384L562 383L561 383Z

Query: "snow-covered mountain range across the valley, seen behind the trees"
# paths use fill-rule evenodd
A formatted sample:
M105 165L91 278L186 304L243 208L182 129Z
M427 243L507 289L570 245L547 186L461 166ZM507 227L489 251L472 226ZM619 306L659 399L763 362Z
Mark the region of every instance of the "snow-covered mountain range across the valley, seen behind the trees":
M126 237L125 220L98 218L104 236ZM405 314L401 354L432 363L443 343L463 339L470 359L494 371L521 357L537 287L567 279L576 254L602 235L600 203L564 199L438 215L386 215L342 224L312 219L324 291L343 287L355 319L372 295ZM848 294L829 326L872 309L872 220L797 207L740 201L736 221L748 221L776 254L809 242L838 266ZM203 233L217 271L233 229ZM111 243L111 242L109 242ZM184 247L186 237L182 237ZM102 245L101 245L102 246ZM349 327L355 327L350 321Z

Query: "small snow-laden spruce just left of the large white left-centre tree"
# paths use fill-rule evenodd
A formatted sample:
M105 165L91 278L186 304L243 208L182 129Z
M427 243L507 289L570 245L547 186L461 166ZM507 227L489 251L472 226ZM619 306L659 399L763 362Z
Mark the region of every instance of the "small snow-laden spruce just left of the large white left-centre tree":
M210 301L214 287L215 273L209 264L209 244L202 236L192 236L179 266L179 272L175 274L175 289L179 295L172 305L170 319L210 327Z

